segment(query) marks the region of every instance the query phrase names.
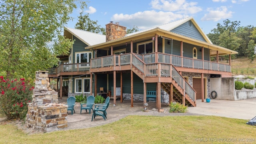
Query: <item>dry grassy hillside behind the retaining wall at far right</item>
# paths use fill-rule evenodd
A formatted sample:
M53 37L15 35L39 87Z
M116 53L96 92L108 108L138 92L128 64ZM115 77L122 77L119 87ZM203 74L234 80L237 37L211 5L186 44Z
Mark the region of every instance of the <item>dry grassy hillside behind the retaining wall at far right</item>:
M226 60L223 60L223 64L226 64ZM246 75L256 77L256 60L252 63L248 58L236 58L231 61L232 75Z

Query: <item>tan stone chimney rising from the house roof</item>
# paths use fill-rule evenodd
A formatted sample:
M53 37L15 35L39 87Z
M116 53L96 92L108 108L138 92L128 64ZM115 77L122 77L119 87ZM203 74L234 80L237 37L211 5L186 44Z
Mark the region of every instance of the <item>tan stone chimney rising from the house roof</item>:
M106 42L123 38L126 35L126 27L120 26L119 22L106 24Z

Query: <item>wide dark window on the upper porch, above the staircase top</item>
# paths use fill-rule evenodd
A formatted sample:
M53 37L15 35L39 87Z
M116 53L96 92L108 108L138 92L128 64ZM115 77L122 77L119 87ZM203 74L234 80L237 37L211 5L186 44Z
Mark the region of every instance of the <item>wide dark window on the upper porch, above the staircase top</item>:
M148 54L154 52L153 42L148 41L144 43L137 44L138 54Z

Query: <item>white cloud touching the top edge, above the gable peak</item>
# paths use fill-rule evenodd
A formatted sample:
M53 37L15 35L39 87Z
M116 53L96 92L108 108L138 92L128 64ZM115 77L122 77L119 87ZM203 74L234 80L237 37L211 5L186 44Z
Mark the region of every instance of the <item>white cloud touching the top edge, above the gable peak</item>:
M202 11L201 7L196 6L197 2L186 2L186 0L152 0L150 4L153 9L178 14L195 14Z

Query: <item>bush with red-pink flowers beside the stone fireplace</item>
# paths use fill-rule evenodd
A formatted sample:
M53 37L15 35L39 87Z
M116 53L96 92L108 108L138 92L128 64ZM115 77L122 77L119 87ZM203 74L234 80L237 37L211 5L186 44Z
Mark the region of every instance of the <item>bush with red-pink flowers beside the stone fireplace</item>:
M32 101L33 89L24 78L4 80L0 76L0 114L7 120L25 118L28 112L27 103Z

